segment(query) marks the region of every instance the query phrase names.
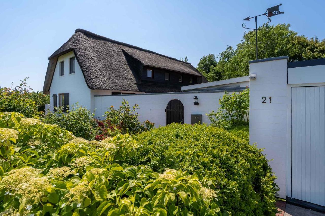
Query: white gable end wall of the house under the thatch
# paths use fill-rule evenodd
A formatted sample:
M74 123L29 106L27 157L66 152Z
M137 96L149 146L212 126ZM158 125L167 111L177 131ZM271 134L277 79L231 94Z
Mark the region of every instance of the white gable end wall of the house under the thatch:
M54 70L53 79L50 86L50 110L53 110L53 94L69 93L69 106L71 107L76 102L83 107L91 108L90 89L88 88L84 75L78 64L77 59L74 60L75 72L69 74L69 59L74 56L73 52L59 56L57 65ZM64 76L60 76L60 62L64 62Z

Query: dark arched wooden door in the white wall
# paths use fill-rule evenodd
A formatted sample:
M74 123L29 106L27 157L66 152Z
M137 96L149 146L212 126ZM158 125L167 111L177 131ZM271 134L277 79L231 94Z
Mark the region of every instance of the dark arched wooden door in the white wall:
M184 124L184 106L180 100L173 99L166 106L166 125L176 122Z

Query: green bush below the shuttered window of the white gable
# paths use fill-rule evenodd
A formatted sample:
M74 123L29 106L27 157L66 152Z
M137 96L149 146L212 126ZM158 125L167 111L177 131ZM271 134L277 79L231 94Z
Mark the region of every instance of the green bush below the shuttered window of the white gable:
M48 124L56 124L71 131L75 136L88 140L94 139L97 133L97 123L93 114L78 103L72 106L68 113L64 113L63 108L58 108L58 111L54 113L49 112L43 121Z

